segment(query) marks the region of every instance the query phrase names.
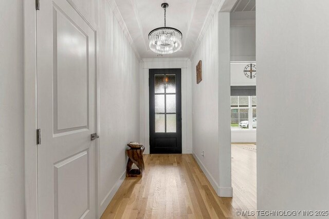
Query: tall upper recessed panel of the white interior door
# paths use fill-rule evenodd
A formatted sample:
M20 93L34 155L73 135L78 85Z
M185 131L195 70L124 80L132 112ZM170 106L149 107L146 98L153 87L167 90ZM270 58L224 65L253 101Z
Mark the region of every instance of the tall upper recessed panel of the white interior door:
M87 126L88 36L67 15L53 9L54 109L57 129ZM57 54L56 54L57 53ZM69 61L69 62L68 62ZM70 91L70 95L67 95ZM73 116L72 116L73 115Z

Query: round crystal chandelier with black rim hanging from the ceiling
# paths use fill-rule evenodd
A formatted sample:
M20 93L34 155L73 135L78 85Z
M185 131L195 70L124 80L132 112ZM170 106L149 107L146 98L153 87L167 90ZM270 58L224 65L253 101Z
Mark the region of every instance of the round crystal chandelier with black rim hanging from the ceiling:
M166 27L167 3L161 4L165 10L165 27L159 27L149 33L150 49L155 53L171 54L177 52L181 47L182 34L179 30Z

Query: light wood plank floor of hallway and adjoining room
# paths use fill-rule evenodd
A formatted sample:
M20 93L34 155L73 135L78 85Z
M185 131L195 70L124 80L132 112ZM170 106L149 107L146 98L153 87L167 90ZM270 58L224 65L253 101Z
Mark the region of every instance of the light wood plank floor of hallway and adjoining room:
M144 155L143 177L126 178L101 218L240 218L256 209L255 154L232 145L233 198L216 195L191 154Z

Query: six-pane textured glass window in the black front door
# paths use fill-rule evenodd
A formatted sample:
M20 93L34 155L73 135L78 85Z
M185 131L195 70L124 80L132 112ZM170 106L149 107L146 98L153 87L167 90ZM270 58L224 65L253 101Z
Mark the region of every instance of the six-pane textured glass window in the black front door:
M155 89L154 89L155 132L175 133L176 132L176 75L155 74L154 81L155 81L154 83L155 84ZM158 95L161 95L161 98L159 97L157 98ZM164 99L162 98L162 95ZM158 102L157 99L159 100ZM169 102L167 102L167 99ZM162 110L162 104L164 105L163 110Z

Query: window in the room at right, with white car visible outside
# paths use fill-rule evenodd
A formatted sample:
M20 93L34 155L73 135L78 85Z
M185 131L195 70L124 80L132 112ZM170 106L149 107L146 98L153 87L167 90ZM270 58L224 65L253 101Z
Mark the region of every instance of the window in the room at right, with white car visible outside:
M231 129L257 128L256 107L256 96L231 96Z

